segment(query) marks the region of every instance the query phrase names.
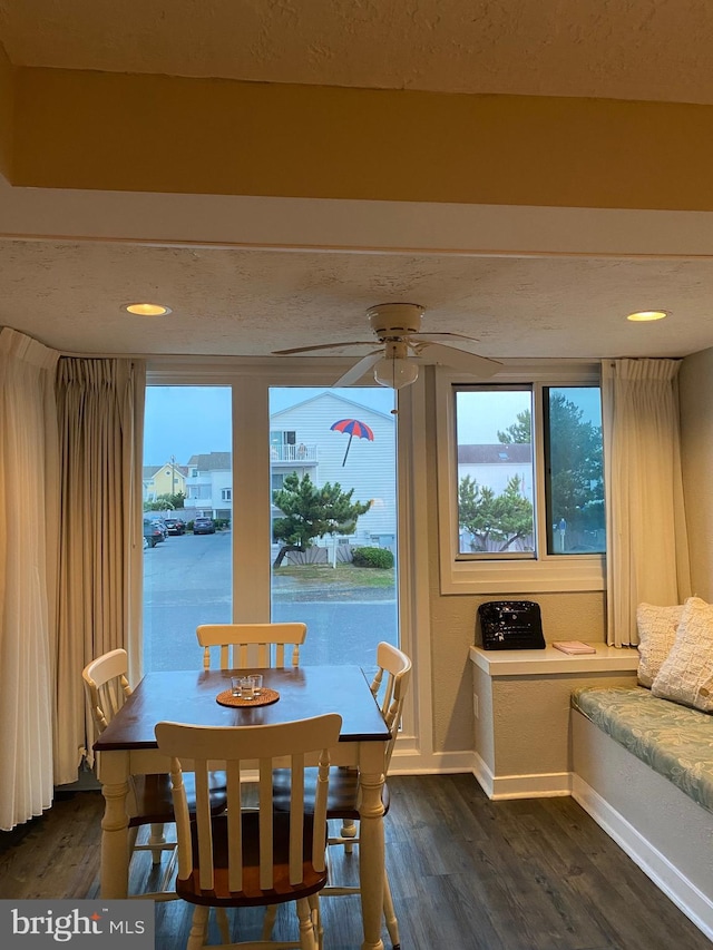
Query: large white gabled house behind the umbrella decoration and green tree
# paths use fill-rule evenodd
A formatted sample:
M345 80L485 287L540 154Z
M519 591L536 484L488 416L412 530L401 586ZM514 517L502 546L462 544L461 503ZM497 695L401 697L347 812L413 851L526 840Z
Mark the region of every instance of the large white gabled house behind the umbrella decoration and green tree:
M331 429L341 419L364 422L374 434L373 441L354 437L350 445L348 434ZM273 413L270 447L273 490L282 488L285 476L293 471L300 476L309 473L318 486L329 481L339 482L344 490L353 488L353 501L372 505L359 518L351 540L393 546L397 530L393 415L324 392ZM316 543L330 542L330 538L316 539Z

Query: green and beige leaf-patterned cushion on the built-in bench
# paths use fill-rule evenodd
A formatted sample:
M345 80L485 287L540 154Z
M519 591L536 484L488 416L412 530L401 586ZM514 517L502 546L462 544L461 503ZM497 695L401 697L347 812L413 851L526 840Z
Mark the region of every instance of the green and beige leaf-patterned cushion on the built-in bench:
M713 812L713 717L642 686L576 689L572 705L615 742Z

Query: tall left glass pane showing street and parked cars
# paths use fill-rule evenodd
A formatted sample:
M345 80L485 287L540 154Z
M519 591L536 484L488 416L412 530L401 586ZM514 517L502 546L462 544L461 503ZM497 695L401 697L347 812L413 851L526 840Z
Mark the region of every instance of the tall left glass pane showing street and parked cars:
M146 389L144 463L172 466L158 473L148 517L179 517L183 533L144 550L143 667L145 673L182 669L198 659L198 624L232 618L232 511L218 506L233 479L231 389L149 385ZM175 462L173 461L175 460ZM183 503L175 507L178 477L186 473ZM158 480L158 476L156 477ZM229 502L229 497L228 497ZM196 519L221 519L219 530L194 530Z

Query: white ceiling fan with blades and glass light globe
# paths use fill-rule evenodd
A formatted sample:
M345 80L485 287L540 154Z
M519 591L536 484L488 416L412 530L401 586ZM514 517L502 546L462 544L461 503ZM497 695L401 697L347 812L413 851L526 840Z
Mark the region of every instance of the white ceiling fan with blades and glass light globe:
M472 336L449 331L421 332L421 317L426 307L416 303L378 304L367 311L371 330L379 341L379 347L359 360L351 370L334 383L335 386L350 386L373 368L374 379L382 386L402 389L414 383L419 375L419 364L441 363L455 370L480 379L497 373L501 363L479 356L476 353L449 346L439 341L446 337L461 343L476 343ZM291 356L295 353L312 353L318 350L339 350L342 346L372 346L373 340L350 340L345 343L319 343L314 346L294 346L291 350L274 350L275 356Z

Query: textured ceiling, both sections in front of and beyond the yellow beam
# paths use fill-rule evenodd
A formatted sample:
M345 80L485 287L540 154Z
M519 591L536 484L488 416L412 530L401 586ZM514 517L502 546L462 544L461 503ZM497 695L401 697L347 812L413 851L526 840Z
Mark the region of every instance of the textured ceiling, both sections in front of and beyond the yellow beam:
M0 41L17 66L713 104L713 4L703 0L0 0ZM399 300L427 307L424 330L477 336L495 358L713 345L705 257L6 238L0 287L0 325L86 353L261 355L365 339L367 307ZM170 317L119 311L147 298L170 305ZM624 320L641 307L673 316Z

